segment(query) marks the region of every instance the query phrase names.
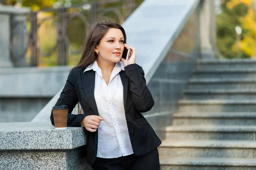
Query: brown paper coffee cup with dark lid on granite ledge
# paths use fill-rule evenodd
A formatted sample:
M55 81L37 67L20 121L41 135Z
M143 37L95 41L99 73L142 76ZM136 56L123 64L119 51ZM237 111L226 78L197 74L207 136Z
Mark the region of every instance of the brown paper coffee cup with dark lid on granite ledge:
M55 129L67 128L68 108L66 105L54 106L52 108Z

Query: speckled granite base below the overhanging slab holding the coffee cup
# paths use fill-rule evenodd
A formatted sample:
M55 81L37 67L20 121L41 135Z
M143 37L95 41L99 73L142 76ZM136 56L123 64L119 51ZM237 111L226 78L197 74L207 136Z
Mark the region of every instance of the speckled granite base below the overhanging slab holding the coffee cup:
M0 150L0 169L92 170L83 150Z

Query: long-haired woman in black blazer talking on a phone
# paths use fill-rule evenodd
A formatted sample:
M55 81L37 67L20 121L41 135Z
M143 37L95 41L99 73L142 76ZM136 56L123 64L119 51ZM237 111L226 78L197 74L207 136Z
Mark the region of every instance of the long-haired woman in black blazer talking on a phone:
M69 107L67 126L89 132L87 163L93 170L159 170L161 141L141 114L154 100L135 64L135 49L125 43L118 23L94 24L55 106ZM131 50L128 60L122 58L125 47ZM84 114L71 114L78 102ZM52 113L50 119L54 125Z

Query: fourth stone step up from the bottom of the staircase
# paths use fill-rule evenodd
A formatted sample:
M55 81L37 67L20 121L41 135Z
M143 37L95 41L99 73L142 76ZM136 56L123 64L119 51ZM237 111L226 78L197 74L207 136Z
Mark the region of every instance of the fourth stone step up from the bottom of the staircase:
M175 113L172 125L256 125L256 112Z

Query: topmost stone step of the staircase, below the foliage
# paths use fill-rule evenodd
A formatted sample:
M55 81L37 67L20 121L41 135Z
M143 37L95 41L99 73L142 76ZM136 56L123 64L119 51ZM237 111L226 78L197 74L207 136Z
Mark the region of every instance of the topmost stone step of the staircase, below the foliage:
M207 59L198 60L198 68L256 68L256 59Z

